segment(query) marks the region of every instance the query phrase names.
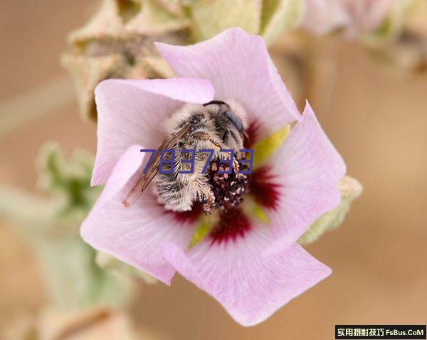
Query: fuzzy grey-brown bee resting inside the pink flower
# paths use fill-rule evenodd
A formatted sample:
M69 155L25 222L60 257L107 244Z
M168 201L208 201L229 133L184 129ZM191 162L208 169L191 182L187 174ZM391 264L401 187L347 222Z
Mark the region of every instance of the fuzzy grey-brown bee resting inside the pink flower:
M189 211L195 202L203 203L205 213L210 213L215 203L215 195L209 183L209 176L204 173L204 166L208 161L206 152L201 149L214 150L212 160L230 159L231 154L221 152L222 149L232 149L233 170L238 175L238 159L243 148L244 124L246 113L238 103L214 100L204 105L184 105L164 122L167 128L167 137L155 152L149 168L137 178L130 192L123 201L125 206L135 203L154 181L154 191L157 201L169 211ZM174 166L162 164L164 170L159 172L162 149L174 150ZM184 151L183 151L184 150ZM185 150L194 150L194 155ZM170 154L169 159L172 159ZM194 156L192 171L189 159ZM168 167L169 166L169 167ZM229 169L228 169L229 170ZM182 174L186 171L186 174Z

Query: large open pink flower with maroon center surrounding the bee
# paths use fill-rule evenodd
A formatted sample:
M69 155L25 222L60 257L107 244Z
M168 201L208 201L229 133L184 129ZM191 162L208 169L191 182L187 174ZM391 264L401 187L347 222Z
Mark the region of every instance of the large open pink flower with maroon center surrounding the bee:
M330 275L296 241L339 204L344 162L310 105L300 115L260 36L231 28L193 46L157 43L157 49L177 78L105 80L95 90L92 184L106 184L80 233L167 285L178 271L236 322L258 324ZM142 171L139 150L159 147L162 121L188 102L228 99L246 111L244 146L255 155L241 206L205 217L197 204L174 213L147 189L125 208L123 198ZM265 152L266 144L275 152Z

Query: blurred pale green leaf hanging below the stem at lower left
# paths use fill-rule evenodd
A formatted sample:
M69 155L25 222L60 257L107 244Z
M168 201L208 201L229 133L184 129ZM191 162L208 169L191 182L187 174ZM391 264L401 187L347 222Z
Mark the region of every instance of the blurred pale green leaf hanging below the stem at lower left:
M131 282L100 268L96 250L78 233L52 231L36 241L39 258L53 306L60 309L104 304L120 307L130 297Z

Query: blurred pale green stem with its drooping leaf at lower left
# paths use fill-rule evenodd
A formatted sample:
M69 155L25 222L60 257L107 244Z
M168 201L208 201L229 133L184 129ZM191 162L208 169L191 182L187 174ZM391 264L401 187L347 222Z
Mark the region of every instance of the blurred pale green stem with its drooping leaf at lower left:
M0 186L0 216L18 224L41 264L51 304L61 309L105 304L119 307L131 283L95 263L95 250L83 242L79 223L58 218L51 201Z

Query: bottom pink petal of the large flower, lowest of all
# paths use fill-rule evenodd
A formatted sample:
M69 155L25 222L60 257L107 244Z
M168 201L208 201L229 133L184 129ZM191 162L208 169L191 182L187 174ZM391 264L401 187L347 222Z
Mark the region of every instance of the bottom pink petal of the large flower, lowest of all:
M235 242L212 244L206 239L189 253L168 243L162 255L217 299L236 322L253 326L331 272L300 245L272 257L260 256L272 239L268 228L257 227Z

